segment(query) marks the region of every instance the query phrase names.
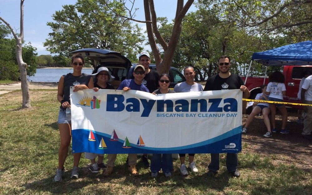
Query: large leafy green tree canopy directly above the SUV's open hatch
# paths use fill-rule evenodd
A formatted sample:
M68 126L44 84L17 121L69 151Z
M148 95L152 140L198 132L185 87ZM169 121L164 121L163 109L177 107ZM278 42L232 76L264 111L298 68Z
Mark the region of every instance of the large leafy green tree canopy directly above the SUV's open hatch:
M124 14L122 4L112 1L114 11ZM122 21L102 0L78 0L75 5L64 5L48 22L52 31L44 46L51 53L69 56L81 48L105 48L118 51L131 61L143 48L144 36L138 25Z

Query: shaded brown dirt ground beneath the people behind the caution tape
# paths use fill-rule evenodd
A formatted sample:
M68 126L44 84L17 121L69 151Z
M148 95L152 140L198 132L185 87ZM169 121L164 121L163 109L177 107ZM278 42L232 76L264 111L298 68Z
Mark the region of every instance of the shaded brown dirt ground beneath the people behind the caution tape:
M247 118L248 115L243 114L243 125ZM257 153L262 157L273 156L276 165L278 163L293 164L305 171L312 171L312 141L302 137L303 124L295 122L296 120L297 117L289 116L286 128L290 130L290 133L280 134L281 116L277 115L277 133L266 138L263 136L266 133L263 118L256 116L248 127L247 133L242 134L242 142L248 143L242 152Z

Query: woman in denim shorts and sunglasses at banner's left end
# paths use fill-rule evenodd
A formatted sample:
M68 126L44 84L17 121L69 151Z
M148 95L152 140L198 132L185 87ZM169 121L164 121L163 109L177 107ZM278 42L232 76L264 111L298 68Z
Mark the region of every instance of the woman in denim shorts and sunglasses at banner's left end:
M68 147L71 143L71 120L66 120L66 108L71 107L70 102L70 87L74 87L74 92L84 89L93 88L93 79L91 75L81 73L83 66L85 65L85 59L78 53L72 56L71 66L73 67L73 73L61 76L57 87L57 100L61 102L58 126L61 137L61 145L58 155L58 169L54 181L59 182L65 173L64 163L68 153ZM74 167L71 170L71 178L79 177L78 164L80 161L81 153L74 153Z

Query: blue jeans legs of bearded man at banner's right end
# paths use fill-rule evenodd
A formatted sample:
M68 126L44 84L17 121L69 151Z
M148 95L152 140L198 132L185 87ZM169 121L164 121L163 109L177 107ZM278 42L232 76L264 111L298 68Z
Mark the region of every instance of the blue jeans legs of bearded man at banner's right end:
M209 171L214 171L217 172L220 168L220 159L219 159L219 154L210 154L211 155L211 162L208 165ZM237 167L237 153L227 153L227 171L232 172L236 171Z

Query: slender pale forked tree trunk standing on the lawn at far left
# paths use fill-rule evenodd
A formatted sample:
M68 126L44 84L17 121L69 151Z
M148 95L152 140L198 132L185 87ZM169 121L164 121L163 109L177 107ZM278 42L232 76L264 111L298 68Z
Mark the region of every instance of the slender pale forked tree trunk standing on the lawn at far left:
M20 76L21 76L21 87L22 87L22 108L30 108L30 96L29 96L29 88L28 88L28 80L27 80L27 64L23 61L22 58L22 42L24 38L24 7L23 7L24 0L21 0L21 20L20 20L20 36L17 37L16 33L14 32L13 28L11 25L5 21L2 17L0 17L0 20L4 22L8 28L10 28L15 41L16 41L16 59L17 59L17 64L18 68L20 71Z

